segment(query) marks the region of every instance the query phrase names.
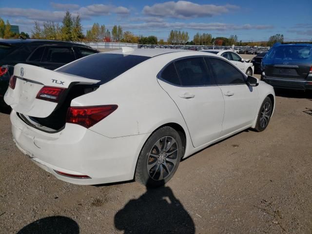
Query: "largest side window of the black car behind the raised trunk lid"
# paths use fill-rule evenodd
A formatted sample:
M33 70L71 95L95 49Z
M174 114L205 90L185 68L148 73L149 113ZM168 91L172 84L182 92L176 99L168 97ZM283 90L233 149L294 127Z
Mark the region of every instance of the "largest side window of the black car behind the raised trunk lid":
M69 63L75 59L72 47L47 46L42 62Z

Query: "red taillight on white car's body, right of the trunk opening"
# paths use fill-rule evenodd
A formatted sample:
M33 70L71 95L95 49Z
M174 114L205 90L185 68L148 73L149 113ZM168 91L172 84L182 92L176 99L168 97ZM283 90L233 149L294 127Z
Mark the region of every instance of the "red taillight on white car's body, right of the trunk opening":
M117 107L117 105L69 107L66 122L90 128L103 118L112 114Z

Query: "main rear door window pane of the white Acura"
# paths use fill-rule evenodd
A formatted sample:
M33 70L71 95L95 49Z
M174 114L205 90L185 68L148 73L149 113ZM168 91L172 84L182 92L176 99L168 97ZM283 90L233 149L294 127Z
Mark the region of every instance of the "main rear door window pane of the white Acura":
M182 59L176 61L175 65L183 86L203 86L212 84L203 58Z

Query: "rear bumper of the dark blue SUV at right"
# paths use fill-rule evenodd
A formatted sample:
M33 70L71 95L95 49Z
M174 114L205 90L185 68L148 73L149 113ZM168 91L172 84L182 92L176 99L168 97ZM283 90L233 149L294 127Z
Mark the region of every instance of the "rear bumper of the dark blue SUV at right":
M264 73L262 73L261 79L275 88L312 90L312 80L309 81L303 79L275 78L266 76Z

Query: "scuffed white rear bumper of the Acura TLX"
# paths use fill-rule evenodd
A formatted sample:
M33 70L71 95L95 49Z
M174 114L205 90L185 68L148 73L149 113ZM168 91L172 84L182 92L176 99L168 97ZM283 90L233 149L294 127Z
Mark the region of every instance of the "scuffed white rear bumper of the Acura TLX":
M134 178L137 156L145 135L104 137L77 124L48 134L25 124L11 113L13 140L40 168L73 184L102 184ZM56 171L91 178L61 176Z

